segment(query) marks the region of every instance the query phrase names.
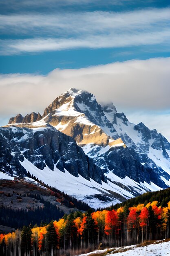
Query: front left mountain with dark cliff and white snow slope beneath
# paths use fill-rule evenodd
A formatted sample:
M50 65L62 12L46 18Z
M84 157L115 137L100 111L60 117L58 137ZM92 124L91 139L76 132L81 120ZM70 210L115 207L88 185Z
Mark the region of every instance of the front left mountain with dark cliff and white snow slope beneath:
M141 189L128 178L122 180L120 186L121 178L113 173L110 178L116 177L117 184L107 180L102 169L85 155L73 138L50 124L32 125L0 128L0 178L26 177L29 172L94 208L122 202L146 191L147 188Z

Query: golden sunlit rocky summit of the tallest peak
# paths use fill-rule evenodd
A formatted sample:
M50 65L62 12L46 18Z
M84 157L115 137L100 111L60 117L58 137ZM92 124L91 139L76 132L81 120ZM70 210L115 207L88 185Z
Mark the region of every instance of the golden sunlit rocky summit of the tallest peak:
M44 123L49 123L73 137L78 144L94 143L106 146L110 136L102 130L102 126L115 131L94 95L74 88L57 97L44 110L42 117Z

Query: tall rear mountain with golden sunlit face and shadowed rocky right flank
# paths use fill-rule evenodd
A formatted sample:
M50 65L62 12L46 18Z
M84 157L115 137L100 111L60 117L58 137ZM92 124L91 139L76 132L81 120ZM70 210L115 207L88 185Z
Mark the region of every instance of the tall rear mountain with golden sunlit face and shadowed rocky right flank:
M93 144L95 153L93 147L89 151L86 151L86 146L83 149L104 172L113 171L119 177L127 175L137 182L152 181L160 187L166 187L161 176L168 182L170 158L166 150L170 150L170 144L165 138L162 139L162 135L150 131L144 124L131 124L124 113L117 113L113 103L101 106L93 94L71 88L44 110L43 117L45 123L73 137L80 146ZM118 142L118 138L121 141ZM161 149L167 168L162 168L164 164L161 166L157 160L159 158L154 158L155 154L150 153L155 145L150 141L156 138L160 140L159 145L155 143L157 149ZM101 146L108 145L114 147L113 152L110 149L101 155ZM122 147L126 148L126 145L128 149L124 150ZM159 155L159 151L156 154Z

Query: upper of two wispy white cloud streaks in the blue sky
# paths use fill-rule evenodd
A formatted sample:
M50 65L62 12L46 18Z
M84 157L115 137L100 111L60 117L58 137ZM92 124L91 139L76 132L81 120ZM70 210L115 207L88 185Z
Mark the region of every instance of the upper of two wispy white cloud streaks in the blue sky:
M126 12L66 12L55 14L10 14L0 15L1 33L22 33L30 31L33 34L42 33L44 30L60 34L77 34L112 29L158 29L168 27L170 8L143 9ZM36 30L38 29L42 29ZM8 29L8 31L7 31ZM34 31L35 29L35 31Z

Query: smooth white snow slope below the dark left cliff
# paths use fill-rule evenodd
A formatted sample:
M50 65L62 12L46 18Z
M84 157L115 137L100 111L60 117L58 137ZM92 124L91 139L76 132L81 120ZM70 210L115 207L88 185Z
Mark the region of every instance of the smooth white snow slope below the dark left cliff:
M20 162L20 164L26 170L30 170L33 176L38 177L38 179L42 180L45 184L55 186L60 191L73 195L78 200L83 200L95 209L99 206L107 207L110 206L110 204L116 204L117 202L131 198L134 196L134 191L136 191L136 193L144 193L148 189L152 191L160 189L152 183L151 185L143 184L145 189L141 188L137 182L130 180L128 177L121 179L112 172L108 173L107 177L117 180L117 182L121 182L121 184L124 185L124 188L121 188L109 180L108 183L102 182L102 184L99 184L93 179L86 180L81 175L75 177L66 171L66 169L64 173L56 167L53 171L51 171L48 166L43 170L40 170L26 158L24 158L24 161Z

